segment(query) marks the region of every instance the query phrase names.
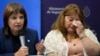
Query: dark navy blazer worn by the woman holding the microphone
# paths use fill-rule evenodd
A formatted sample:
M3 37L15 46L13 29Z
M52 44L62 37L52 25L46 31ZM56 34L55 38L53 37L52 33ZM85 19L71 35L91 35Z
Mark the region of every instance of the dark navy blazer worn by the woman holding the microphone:
M38 42L37 31L26 29L25 45L29 48L29 55L36 55L35 44ZM12 38L6 37L4 30L0 29L0 56L14 56Z

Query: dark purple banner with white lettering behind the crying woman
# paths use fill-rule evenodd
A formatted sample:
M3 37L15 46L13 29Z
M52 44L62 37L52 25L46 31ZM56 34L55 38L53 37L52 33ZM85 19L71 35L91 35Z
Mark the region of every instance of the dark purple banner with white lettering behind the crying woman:
M76 3L83 9L85 22L100 41L100 8L99 0L42 0L41 1L41 34L45 38L58 14L69 3Z

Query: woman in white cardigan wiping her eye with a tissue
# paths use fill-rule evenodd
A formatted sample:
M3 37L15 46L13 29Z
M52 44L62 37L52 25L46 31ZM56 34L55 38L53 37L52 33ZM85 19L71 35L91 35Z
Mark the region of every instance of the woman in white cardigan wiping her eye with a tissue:
M84 22L82 9L68 4L44 41L47 56L98 56L100 43Z

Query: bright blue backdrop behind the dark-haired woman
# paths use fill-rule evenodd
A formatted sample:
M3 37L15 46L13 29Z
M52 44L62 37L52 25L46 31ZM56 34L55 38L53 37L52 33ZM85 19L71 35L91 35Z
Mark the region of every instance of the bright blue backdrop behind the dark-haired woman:
M22 4L27 12L28 27L38 31L39 40L41 37L41 19L40 19L40 0L0 0L0 27L3 27L3 12L6 5L10 2Z

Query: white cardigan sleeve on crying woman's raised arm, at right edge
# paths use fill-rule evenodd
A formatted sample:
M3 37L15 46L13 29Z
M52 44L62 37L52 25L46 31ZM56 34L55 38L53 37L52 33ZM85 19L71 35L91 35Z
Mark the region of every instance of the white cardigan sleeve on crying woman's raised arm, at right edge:
M90 40L92 40L96 44L100 45L99 41L97 40L96 35L90 29L85 29L84 33Z

